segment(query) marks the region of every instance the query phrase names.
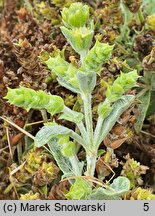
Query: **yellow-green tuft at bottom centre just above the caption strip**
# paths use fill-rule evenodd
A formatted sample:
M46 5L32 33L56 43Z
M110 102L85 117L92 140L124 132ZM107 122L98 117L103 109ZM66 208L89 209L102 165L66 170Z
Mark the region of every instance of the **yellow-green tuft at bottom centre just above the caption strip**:
M69 200L84 200L91 193L92 187L82 178L77 178L65 195Z

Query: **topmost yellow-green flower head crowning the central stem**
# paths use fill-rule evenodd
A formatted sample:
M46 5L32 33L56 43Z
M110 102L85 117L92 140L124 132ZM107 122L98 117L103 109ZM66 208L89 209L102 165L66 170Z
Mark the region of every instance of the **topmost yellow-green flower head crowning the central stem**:
M73 3L61 12L62 21L67 28L83 27L89 19L89 7L82 3Z

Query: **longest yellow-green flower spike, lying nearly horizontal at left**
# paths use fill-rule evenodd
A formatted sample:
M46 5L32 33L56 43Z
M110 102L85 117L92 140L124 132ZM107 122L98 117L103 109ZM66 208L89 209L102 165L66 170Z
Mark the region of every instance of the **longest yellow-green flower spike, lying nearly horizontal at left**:
M61 97L25 87L8 88L8 93L4 98L8 99L11 104L26 110L46 109L52 115L61 112L64 108L64 101Z

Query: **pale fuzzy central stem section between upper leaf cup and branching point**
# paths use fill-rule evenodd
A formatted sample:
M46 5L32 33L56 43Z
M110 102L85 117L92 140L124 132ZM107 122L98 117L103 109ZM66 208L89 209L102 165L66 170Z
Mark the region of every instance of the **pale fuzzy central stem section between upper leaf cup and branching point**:
M89 139L88 146L93 146L93 121L92 121L92 110L91 110L91 95L81 95L84 102L84 114L85 114L85 123L87 129L87 136Z

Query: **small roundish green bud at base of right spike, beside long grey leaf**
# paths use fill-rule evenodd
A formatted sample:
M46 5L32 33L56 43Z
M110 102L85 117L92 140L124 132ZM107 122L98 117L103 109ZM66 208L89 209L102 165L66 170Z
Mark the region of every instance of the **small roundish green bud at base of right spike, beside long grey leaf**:
M112 107L110 103L101 103L98 106L98 115L101 116L102 119L105 119L112 111Z

